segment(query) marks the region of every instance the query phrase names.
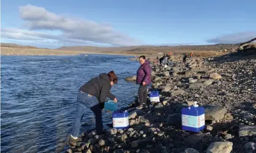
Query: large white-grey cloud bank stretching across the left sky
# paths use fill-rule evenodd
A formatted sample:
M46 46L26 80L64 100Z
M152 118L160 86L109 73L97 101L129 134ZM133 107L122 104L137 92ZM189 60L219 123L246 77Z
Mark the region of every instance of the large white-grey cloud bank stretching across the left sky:
M138 45L139 41L113 29L110 24L94 21L68 18L48 12L43 7L25 5L19 7L24 29L1 29L1 37L15 40L55 40L59 43L70 44L112 44L116 46ZM37 30L60 30L62 33L53 35Z

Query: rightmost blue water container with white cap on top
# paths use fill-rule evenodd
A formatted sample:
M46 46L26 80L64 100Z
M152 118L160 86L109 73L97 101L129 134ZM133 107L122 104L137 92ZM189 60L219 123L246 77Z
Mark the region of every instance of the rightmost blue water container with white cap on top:
M205 109L194 102L191 107L181 109L181 120L183 130L200 132L205 129Z

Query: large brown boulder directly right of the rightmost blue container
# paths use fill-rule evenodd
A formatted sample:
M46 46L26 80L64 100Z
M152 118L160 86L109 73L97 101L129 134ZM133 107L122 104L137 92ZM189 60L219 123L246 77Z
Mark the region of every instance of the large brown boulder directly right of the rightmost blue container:
M225 113L227 113L226 108L222 108L214 105L202 105L205 108L205 120L218 121L224 118Z

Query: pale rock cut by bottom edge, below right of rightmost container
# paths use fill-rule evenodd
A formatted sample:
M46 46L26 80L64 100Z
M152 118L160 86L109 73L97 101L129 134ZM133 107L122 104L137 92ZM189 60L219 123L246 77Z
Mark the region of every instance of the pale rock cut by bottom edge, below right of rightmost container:
M232 151L232 142L213 142L209 145L206 153L230 153Z

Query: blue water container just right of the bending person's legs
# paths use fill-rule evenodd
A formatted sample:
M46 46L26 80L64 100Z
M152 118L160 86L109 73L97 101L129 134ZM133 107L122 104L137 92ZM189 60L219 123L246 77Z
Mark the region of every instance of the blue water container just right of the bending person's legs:
M113 127L116 129L126 129L129 127L129 113L127 110L118 110L113 112Z

